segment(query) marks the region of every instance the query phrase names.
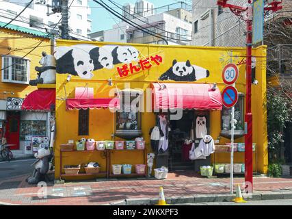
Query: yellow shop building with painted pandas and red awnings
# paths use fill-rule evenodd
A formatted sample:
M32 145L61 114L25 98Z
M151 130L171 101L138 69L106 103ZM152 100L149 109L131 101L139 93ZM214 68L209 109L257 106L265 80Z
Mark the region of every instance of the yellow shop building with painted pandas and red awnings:
M150 129L159 124L163 117L162 110L154 112L153 107L165 109L163 115L168 118L170 127L170 132L166 131L168 144L159 145L161 152L167 150L157 153L154 168L159 168L161 164L170 164L172 168L173 164L175 169L175 164L189 162L189 166L197 171L200 165L208 163L230 163L230 153L217 152L204 161L190 162L187 160L188 148L184 149L184 142L194 136L198 145L200 136L206 133L216 145L230 142L230 112L224 107L221 110L220 94L226 86L222 81L222 70L228 63L237 64L239 68L236 88L240 95L235 106L238 122L235 142L244 142L244 48L90 43L57 40L55 179L92 177L64 174L64 166L88 162L98 162L101 172L107 171L108 177L111 177L111 164L132 164L132 172L135 172L135 164L146 164L145 154L156 149L151 146L154 144L150 144ZM256 144L253 164L254 171L266 173L266 47L254 49L253 55L257 57L255 69L258 81L257 85L252 86L253 142ZM127 94L133 95L129 97ZM160 94L162 96L159 97ZM137 101L139 112L133 109L133 113L131 110L127 112L131 108L123 101L127 96L131 101ZM190 104L185 105L187 102ZM179 103L186 109L181 111L178 120L170 118L180 113L176 109L182 106ZM112 108L118 105L120 110L114 112ZM196 125L199 117L203 118L203 129L198 129ZM63 151L61 155L60 151L61 144L77 142L81 138L127 141L137 137L146 141L146 153L139 150L105 152L85 149ZM235 163L244 163L244 153L235 152Z

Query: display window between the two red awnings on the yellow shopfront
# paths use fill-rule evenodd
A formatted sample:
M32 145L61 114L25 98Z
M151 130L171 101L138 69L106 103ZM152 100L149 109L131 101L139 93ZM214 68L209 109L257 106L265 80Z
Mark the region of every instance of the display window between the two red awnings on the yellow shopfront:
M142 92L137 90L120 92L121 107L116 112L116 136L135 138L141 135Z

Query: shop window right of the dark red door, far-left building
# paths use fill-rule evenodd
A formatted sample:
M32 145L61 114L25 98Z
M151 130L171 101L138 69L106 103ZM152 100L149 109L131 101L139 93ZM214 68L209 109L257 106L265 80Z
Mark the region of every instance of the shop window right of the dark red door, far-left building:
M21 120L20 140L30 139L31 136L47 136L47 121Z

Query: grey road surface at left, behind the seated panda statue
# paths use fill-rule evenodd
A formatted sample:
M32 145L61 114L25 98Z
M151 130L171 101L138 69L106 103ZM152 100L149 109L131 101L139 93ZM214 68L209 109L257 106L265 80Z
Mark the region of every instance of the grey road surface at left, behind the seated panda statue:
M19 159L9 162L0 162L0 180L17 177L26 174L32 174L34 168L31 164L34 163L36 159Z

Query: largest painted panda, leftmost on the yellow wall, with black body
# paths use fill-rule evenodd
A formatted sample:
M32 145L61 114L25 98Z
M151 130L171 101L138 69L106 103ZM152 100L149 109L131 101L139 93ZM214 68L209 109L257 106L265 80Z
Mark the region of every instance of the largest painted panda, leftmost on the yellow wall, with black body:
M74 47L57 47L54 55L57 73L78 75L85 79L93 77L94 64L87 52Z

